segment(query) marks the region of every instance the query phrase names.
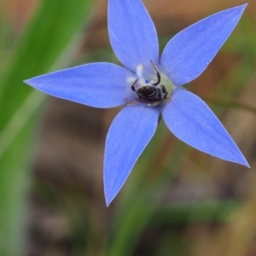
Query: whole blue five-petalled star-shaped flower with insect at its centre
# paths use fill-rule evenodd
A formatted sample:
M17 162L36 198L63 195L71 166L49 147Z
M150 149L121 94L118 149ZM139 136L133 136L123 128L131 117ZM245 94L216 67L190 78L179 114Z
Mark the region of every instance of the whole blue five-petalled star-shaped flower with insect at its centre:
M125 105L109 128L104 159L107 205L154 135L159 115L184 143L248 166L207 104L181 85L197 78L230 36L247 4L226 9L177 33L159 55L154 23L140 0L109 0L108 33L124 65L99 62L26 80L26 84L95 108Z

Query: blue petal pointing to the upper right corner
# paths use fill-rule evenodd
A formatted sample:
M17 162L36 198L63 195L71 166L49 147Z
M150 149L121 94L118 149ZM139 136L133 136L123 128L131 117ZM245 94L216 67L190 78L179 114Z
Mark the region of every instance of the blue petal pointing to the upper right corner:
M197 78L212 61L240 20L247 4L226 9L200 20L169 41L161 55L161 64L175 85Z

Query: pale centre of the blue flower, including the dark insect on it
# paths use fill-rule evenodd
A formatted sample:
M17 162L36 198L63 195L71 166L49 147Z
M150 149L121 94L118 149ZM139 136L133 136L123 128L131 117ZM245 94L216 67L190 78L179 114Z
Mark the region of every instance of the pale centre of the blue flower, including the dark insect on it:
M145 79L143 76L143 65L140 64L136 68L136 76L127 78L127 82L131 83L131 90L137 93L137 99L128 104L136 104L142 102L148 106L157 106L170 101L174 86L164 73L160 73L151 61L154 68L155 77Z

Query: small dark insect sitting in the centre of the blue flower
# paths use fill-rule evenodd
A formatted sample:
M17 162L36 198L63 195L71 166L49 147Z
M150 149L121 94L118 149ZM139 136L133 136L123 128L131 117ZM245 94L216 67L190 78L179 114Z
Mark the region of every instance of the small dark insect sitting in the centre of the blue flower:
M160 84L161 76L157 68L155 67L153 61L151 61L154 71L157 75L157 82L151 83L148 82L139 88L135 87L137 80L131 85L131 90L134 90L137 93L138 99L137 102L142 102L148 104L148 106L156 106L163 102L167 102L167 91L166 87L163 84Z

